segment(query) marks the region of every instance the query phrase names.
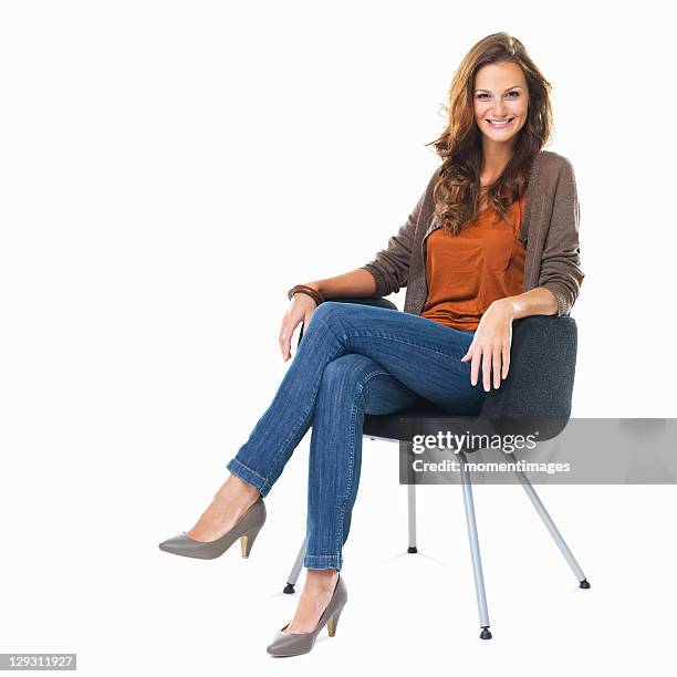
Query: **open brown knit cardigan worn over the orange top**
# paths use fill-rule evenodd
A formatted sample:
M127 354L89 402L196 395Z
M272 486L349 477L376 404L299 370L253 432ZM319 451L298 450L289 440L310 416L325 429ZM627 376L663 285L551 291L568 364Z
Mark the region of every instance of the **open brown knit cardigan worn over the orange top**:
M362 267L374 277L377 296L406 287L404 310L416 315L420 315L428 295L426 238L441 227L433 204L439 169L387 248ZM520 240L527 244L523 291L549 289L558 300L558 315L569 315L585 277L580 268L580 207L571 162L552 150L541 150L532 164L528 188L520 230Z

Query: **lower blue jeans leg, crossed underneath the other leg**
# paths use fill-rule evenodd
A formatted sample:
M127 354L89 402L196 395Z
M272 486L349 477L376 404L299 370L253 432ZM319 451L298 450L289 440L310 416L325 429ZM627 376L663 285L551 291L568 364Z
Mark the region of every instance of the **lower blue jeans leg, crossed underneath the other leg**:
M305 567L343 566L342 548L360 485L365 412L392 414L421 400L364 355L350 353L326 365L310 444Z

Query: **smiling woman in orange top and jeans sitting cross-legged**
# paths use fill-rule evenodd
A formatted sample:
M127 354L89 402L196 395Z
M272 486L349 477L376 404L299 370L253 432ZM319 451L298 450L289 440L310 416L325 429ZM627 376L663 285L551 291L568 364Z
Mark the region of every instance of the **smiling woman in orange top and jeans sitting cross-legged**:
M263 498L312 424L308 575L294 617L268 652L311 650L347 598L340 575L357 493L364 414L431 402L479 414L510 366L512 321L567 315L583 281L579 201L571 163L543 150L552 129L550 83L506 33L478 42L450 87L441 165L414 211L375 260L296 285L279 342L305 332L270 407L227 468L196 525L160 543L215 558L238 538L242 554L265 520ZM407 287L405 312L332 303ZM482 387L478 387L480 377Z

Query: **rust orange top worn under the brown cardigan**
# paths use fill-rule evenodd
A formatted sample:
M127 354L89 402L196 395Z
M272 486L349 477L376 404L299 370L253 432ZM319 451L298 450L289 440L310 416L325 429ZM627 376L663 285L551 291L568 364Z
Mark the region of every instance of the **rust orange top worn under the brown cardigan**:
M423 317L475 331L493 301L522 293L527 249L519 236L525 201L527 192L509 207L507 220L486 208L456 236L444 228L428 236Z

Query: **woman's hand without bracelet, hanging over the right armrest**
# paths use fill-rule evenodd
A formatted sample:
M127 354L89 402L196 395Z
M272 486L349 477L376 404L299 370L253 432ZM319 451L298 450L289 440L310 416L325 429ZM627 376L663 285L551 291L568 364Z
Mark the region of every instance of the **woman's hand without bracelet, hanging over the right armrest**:
M470 383L477 385L480 358L485 390L491 389L491 366L493 364L493 387L501 385L508 376L510 366L510 344L512 342L512 320L514 306L508 299L494 301L481 316L468 352L461 362L472 360Z

